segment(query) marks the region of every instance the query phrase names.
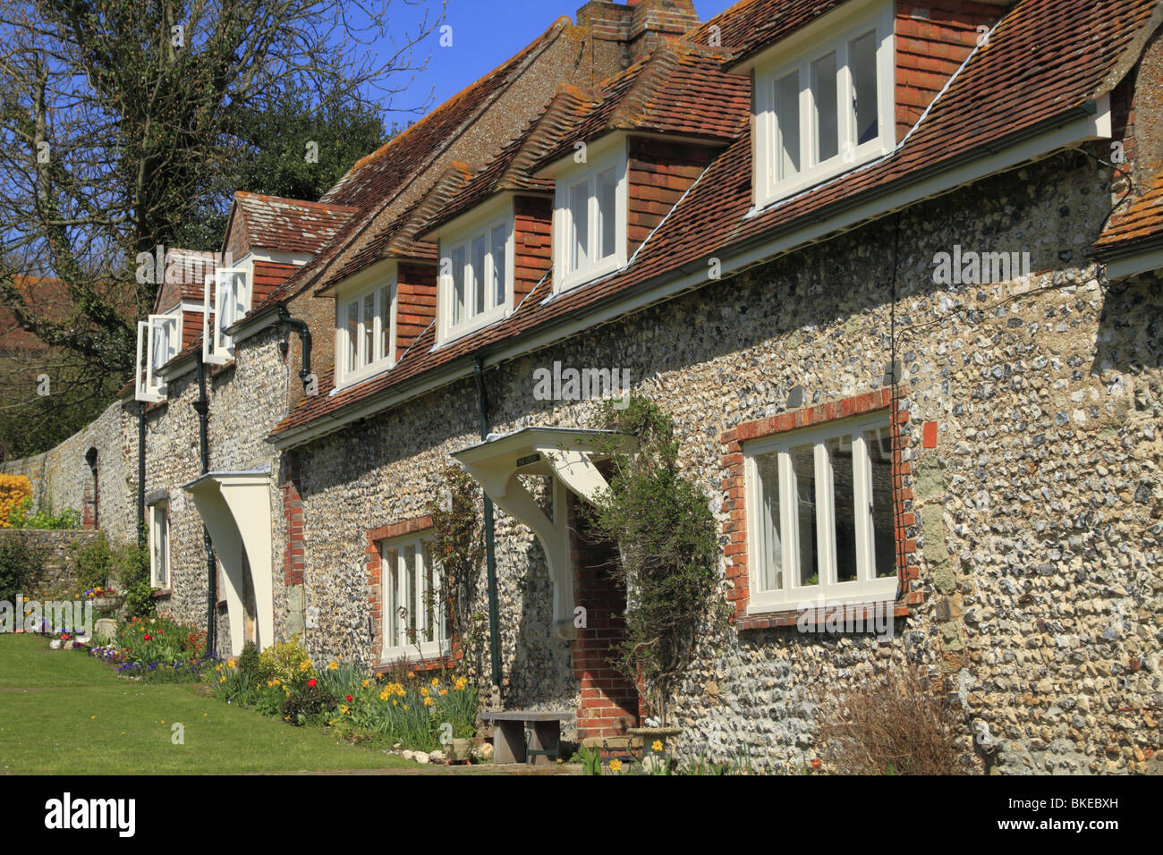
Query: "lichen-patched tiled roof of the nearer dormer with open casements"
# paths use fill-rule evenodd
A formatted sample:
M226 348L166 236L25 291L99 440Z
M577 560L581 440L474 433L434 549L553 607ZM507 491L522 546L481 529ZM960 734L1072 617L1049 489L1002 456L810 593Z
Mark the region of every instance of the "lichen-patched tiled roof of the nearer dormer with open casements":
M279 199L242 191L234 195L249 244L280 252L319 252L356 212L350 205Z

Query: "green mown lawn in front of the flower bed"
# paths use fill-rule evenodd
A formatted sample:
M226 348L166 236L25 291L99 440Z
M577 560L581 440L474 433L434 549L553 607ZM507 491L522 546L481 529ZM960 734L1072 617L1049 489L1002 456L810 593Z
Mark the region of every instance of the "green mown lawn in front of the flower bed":
M172 726L185 727L173 744ZM419 769L326 732L228 706L188 684L145 685L36 635L0 635L0 775Z

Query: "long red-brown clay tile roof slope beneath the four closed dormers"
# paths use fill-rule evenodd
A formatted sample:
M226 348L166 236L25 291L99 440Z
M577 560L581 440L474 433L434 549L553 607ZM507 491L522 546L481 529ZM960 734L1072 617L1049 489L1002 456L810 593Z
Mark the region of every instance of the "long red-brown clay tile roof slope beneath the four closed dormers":
M822 5L754 0L735 9L750 14L756 8ZM1160 0L1020 0L893 154L759 212L752 209L751 135L744 120L737 140L679 200L627 268L548 301L552 282L547 277L508 318L441 348L434 348L435 333L429 328L390 371L338 394L327 394L330 380L321 378L321 394L292 411L274 434L374 398L505 340L544 329L566 315L584 314L637 286L677 277L684 265L705 270L712 255L816 222L920 181L935 170L952 169L968 156L989 156L990 150L1014 144L1040 127L1057 124L1064 114L1082 112L1092 99L1108 94L1126 76L1161 7ZM729 21L732 12L726 15Z

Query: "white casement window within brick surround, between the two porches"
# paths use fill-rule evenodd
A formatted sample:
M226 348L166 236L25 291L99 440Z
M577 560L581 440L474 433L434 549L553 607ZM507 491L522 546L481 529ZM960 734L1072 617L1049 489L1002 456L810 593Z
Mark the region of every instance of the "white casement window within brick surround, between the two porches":
M420 537L380 543L385 661L448 653L448 619L440 573Z

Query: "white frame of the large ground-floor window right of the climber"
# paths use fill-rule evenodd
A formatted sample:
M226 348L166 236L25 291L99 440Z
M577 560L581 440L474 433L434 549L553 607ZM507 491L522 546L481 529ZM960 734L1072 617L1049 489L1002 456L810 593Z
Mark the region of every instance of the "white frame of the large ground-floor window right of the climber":
M875 415L859 416L834 421L814 428L792 430L772 437L747 442L743 446L744 483L747 485L747 543L750 568L750 596L748 613L786 611L798 608L805 603L813 607L819 600L828 605L847 603L879 603L897 599L899 569L893 567L891 576L877 578L875 567L876 551L872 523L872 470L864 442L864 432L873 428L889 429L889 413L882 411ZM837 497L834 492L833 471L825 443L841 436L852 436L852 485L851 501L855 507L869 508L866 514L855 514L855 543L857 555L857 576L851 582L836 582L835 555L835 507ZM819 582L814 585L798 585L795 579L799 568L799 525L797 507L799 501L792 473L790 449L812 444L813 476L816 485L815 539L819 560ZM757 458L769 454L778 454L779 480L779 528L780 561L783 587L764 590L764 562L766 561L766 528L763 508L763 490L759 480ZM841 500L848 500L841 497ZM896 530L896 527L893 527ZM894 535L896 536L896 535ZM896 549L893 550L896 555Z

